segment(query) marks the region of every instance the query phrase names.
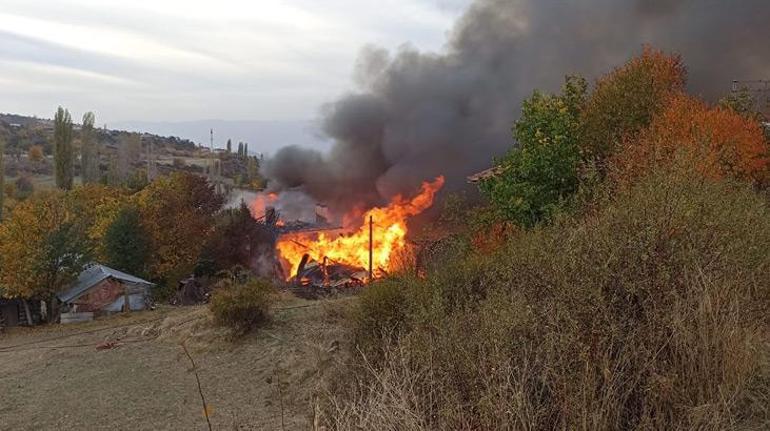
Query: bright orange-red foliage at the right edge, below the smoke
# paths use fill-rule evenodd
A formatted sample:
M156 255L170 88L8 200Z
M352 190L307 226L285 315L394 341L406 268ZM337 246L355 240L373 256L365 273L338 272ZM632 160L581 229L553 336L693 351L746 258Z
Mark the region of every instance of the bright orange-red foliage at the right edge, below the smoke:
M623 183L674 163L711 179L760 184L767 180L768 147L755 120L682 93L613 157L611 175Z

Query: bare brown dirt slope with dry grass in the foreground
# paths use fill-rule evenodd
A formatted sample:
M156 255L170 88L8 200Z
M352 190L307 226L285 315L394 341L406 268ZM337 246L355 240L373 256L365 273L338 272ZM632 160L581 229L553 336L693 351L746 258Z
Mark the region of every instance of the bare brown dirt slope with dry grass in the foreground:
M313 429L351 300L283 297L270 325L238 339L205 306L11 328L0 430L208 430L196 371L212 429Z

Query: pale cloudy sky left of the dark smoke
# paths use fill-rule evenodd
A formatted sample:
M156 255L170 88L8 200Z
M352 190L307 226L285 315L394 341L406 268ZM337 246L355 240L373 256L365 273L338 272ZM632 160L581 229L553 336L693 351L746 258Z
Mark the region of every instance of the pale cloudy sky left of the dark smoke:
M367 45L440 51L470 0L2 0L0 112L312 119Z

